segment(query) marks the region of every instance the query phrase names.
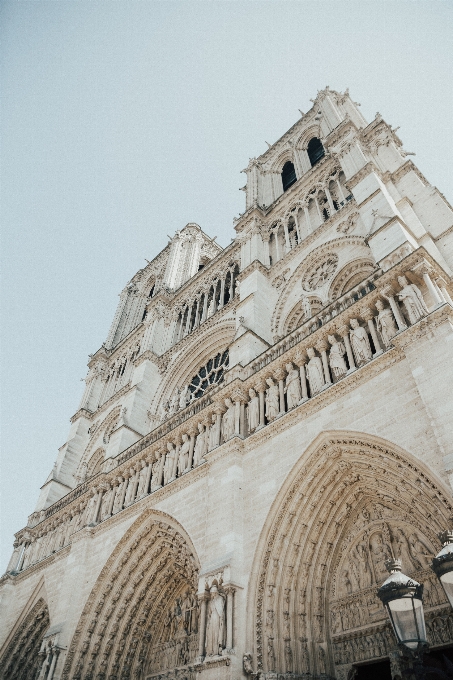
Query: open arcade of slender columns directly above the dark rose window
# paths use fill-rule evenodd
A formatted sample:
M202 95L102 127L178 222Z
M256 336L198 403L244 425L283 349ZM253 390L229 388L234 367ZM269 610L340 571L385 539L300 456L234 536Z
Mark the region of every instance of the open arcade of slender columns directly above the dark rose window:
M194 299L184 304L176 321L173 344L182 340L233 299L238 274L239 267L234 263L207 290L198 291Z

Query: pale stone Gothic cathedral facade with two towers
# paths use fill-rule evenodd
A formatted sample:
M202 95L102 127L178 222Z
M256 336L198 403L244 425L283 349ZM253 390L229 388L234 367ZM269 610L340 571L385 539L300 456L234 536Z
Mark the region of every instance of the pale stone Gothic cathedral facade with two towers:
M396 677L390 557L453 645L453 211L409 155L326 88L229 246L188 224L126 285L0 581L3 680Z

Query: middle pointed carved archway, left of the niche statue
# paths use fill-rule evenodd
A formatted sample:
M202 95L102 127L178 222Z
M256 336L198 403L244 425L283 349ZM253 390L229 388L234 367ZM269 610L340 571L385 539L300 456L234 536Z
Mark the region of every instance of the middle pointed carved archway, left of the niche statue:
M198 651L199 563L184 530L149 510L107 560L62 678L134 678L185 666Z

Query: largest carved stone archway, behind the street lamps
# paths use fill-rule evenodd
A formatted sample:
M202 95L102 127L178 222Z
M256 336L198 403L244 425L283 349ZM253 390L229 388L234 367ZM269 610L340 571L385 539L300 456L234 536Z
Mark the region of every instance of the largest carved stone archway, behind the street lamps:
M354 663L388 657L395 641L376 596L387 555L425 584L431 642L434 628L443 644L453 642L428 568L451 511L442 482L399 447L361 433L318 437L281 489L257 549L249 609L257 670L346 680Z

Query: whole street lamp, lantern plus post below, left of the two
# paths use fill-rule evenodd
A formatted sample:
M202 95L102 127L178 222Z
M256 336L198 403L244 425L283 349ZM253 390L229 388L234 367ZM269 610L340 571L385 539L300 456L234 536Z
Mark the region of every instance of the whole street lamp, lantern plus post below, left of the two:
M404 678L424 680L423 653L428 649L423 614L423 586L401 572L401 560L385 563L390 576L377 595L385 606L398 641Z

